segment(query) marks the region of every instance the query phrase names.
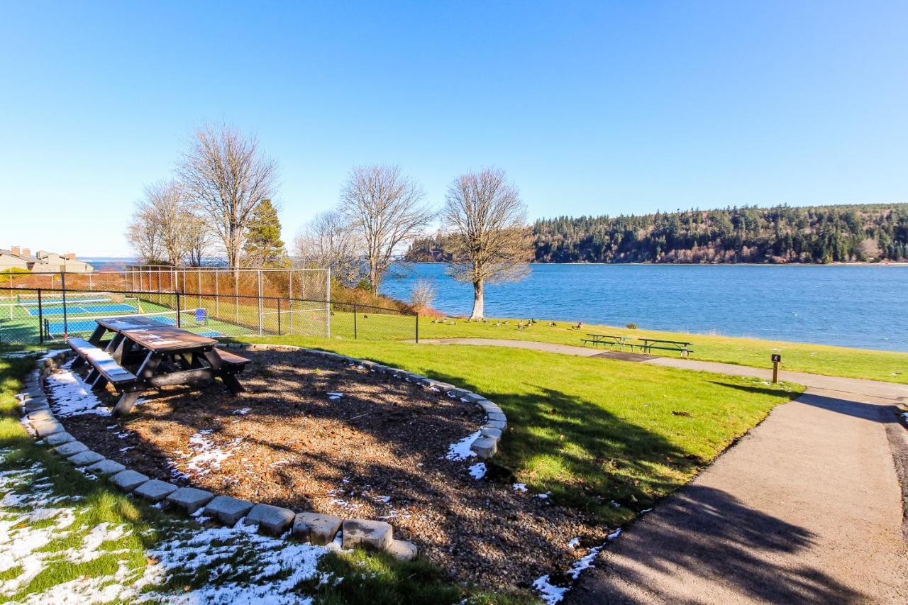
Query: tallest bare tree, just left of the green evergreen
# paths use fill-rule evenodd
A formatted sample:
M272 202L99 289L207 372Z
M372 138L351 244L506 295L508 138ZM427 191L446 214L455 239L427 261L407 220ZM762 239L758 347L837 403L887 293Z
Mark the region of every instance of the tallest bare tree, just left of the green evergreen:
M274 196L277 173L277 164L260 153L254 136L228 125L198 128L183 154L178 174L207 215L232 267L240 266L256 206Z

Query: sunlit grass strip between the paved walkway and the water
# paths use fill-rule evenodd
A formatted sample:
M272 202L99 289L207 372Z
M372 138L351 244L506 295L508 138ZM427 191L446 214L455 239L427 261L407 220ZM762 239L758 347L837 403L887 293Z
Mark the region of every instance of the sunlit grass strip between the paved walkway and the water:
M502 320L505 321L505 320ZM758 368L772 367L770 355L782 353L785 370L810 372L830 376L867 378L885 382L908 384L908 353L849 349L824 344L804 342L764 341L755 338L734 338L688 332L656 332L653 330L628 330L612 326L584 325L579 330L570 329L571 323L556 322L555 326L539 321L528 330L518 330L518 320L507 320L507 325L495 326L498 320L488 323L455 320L450 323L432 323L423 318L419 322L420 338L502 338L558 344L581 345L587 332L628 334L670 341L693 342L691 359L710 362L736 363ZM633 342L633 341L631 341ZM674 352L660 352L668 356Z

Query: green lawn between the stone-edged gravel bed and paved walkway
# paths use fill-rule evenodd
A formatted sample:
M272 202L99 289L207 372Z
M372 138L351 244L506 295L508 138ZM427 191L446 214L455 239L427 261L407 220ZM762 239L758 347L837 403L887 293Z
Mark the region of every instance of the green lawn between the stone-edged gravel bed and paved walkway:
M508 415L492 459L498 475L551 491L556 502L611 525L689 481L801 392L740 376L504 347L263 340L387 363L489 397Z

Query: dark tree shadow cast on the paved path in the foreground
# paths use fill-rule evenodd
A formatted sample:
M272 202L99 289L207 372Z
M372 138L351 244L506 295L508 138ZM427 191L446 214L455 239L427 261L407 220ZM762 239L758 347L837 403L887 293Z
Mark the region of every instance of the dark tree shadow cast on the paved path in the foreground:
M726 491L689 485L604 551L568 594L566 603L678 602L721 599L730 589L744 600L776 603L854 602L866 597L824 570L775 562L814 545L802 527L745 506ZM685 584L679 572L701 579ZM673 580L673 577L675 579Z

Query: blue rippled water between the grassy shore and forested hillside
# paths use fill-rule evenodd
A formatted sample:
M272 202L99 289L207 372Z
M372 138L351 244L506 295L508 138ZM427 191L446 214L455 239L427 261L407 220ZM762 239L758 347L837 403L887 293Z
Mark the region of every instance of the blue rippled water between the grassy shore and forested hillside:
M435 308L469 314L472 286L446 265L408 266L383 293L409 300L425 277ZM486 314L908 351L908 266L534 264L487 286Z

